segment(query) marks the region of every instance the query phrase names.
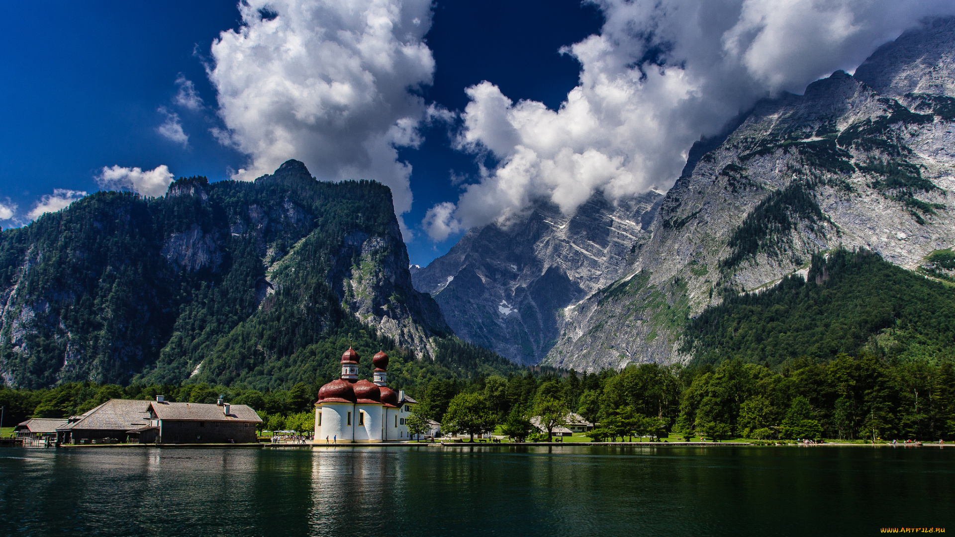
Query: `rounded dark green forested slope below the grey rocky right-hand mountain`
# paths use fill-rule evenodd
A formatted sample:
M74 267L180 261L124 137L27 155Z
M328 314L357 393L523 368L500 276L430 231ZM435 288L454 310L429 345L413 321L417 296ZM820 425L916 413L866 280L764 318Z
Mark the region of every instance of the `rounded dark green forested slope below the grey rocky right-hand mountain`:
M836 250L814 256L806 274L708 308L690 322L682 350L704 363L770 367L863 352L938 364L955 358L955 286L864 249Z

